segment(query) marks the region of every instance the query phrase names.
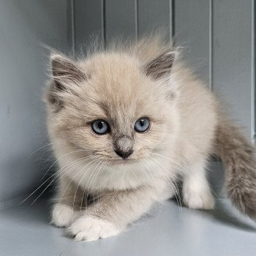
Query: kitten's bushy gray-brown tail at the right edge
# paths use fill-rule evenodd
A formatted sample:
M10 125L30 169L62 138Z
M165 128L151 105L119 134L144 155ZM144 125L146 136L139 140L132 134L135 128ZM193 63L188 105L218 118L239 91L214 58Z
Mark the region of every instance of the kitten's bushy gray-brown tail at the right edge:
M217 155L225 165L227 195L242 213L256 219L255 148L230 121L217 127Z

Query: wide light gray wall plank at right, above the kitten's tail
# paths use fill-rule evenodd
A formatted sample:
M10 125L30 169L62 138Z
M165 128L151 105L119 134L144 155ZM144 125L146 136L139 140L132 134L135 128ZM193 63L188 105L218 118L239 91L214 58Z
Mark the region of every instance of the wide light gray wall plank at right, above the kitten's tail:
M227 112L254 134L252 0L213 2L213 89Z

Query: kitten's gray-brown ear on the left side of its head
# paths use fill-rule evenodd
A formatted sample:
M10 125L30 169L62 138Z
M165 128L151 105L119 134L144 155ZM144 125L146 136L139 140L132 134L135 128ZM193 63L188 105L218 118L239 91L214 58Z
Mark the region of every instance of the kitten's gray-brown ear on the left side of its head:
M70 83L78 83L86 80L86 74L80 70L74 61L68 59L66 56L52 53L50 63L56 89L62 90Z

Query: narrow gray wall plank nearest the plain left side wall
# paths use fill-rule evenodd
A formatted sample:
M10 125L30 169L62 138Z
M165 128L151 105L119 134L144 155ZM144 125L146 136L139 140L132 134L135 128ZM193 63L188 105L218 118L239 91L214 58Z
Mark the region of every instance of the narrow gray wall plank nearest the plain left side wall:
M75 0L75 48L79 48L88 42L94 34L103 39L104 15L103 0Z

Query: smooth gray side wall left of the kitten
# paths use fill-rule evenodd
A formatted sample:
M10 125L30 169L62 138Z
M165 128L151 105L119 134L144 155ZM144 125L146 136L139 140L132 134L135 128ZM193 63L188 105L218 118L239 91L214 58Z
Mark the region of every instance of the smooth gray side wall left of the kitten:
M68 47L69 1L0 1L0 205L39 182L47 143L42 86L47 51L40 43Z

